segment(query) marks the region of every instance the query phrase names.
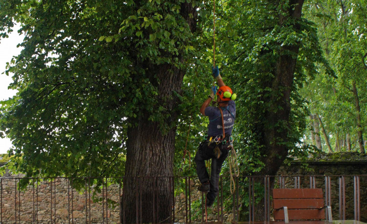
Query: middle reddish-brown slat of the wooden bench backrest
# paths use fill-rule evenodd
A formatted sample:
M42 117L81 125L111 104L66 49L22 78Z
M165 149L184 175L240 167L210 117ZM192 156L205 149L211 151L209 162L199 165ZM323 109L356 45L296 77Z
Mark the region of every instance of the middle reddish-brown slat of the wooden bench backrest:
M319 209L324 206L322 198L290 198L290 199L273 199L274 209L287 206L288 209Z

